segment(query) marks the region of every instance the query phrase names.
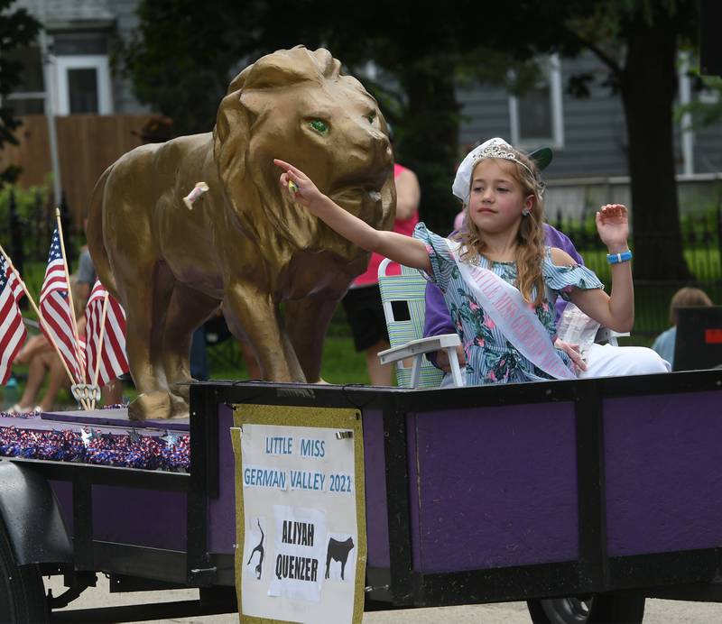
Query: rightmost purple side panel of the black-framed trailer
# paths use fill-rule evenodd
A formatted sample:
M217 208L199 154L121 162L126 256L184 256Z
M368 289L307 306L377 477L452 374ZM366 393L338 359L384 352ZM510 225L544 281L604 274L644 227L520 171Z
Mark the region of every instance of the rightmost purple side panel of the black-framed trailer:
M720 392L606 399L609 555L722 546Z

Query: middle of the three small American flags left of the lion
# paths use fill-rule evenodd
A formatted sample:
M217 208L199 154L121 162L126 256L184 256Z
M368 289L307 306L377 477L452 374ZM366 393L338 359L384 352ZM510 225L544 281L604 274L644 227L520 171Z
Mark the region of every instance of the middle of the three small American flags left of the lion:
M68 294L68 276L60 248L58 229L52 233L48 267L40 292L42 333L58 345L60 355L77 383L85 378L84 362L80 361L81 346L76 343L73 332L73 312Z

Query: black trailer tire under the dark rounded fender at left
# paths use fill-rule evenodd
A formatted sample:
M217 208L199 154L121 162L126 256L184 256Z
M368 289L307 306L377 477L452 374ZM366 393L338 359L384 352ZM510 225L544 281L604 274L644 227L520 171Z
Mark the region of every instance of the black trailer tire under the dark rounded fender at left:
M0 522L0 622L36 624L49 621L49 617L38 566L15 564L5 526Z

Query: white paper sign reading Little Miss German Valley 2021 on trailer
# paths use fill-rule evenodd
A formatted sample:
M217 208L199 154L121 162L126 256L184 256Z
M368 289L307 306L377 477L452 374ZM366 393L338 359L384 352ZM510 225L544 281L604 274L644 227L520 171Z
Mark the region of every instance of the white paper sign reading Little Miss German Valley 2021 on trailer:
M352 622L356 583L353 438L337 428L241 427L242 614Z

